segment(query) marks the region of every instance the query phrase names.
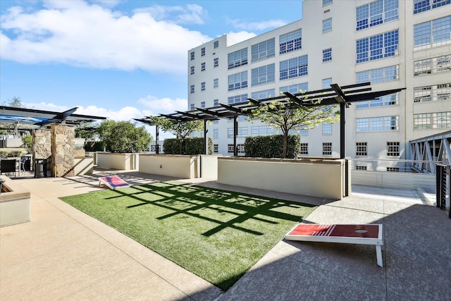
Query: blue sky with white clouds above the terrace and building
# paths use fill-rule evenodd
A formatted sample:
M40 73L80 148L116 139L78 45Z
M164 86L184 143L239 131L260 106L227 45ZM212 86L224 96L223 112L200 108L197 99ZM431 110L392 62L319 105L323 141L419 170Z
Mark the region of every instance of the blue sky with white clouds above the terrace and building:
M187 111L188 50L299 19L302 0L1 0L0 104L116 121Z

